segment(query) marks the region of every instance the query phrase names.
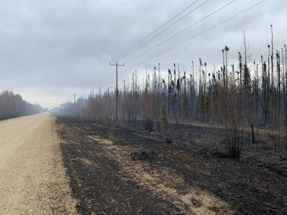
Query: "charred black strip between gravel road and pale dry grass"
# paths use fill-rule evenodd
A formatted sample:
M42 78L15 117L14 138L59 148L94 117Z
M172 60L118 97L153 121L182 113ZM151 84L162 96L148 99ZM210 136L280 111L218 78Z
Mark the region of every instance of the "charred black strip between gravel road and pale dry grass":
M58 123L63 123L61 121ZM78 126L78 125L76 125ZM138 186L134 181L123 181L119 163L101 156L104 148L91 143L85 133L72 128L60 132L69 144L61 150L72 192L78 200L81 214L179 214L171 202L165 202L155 193ZM121 175L123 177L123 175Z

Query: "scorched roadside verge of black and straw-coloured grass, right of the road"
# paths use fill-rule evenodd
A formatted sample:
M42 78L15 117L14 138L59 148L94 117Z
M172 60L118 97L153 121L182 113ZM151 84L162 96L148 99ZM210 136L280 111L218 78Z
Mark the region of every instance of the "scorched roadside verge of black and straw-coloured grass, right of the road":
M56 127L79 214L194 214L174 196L135 180L129 171L133 165L159 173L158 183L183 195L195 189L214 196L224 203L206 206L214 214L287 213L287 179L272 171L123 129L113 130L113 146L125 153L121 159L113 158L109 148L91 141L91 136L108 139L111 128L63 116L57 116ZM170 176L183 181L169 181ZM193 202L193 207L201 206L202 202Z

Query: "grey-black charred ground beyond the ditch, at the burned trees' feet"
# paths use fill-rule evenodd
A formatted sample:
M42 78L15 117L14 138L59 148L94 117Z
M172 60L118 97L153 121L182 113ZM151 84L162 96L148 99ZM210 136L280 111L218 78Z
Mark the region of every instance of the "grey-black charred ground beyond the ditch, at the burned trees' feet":
M170 118L167 123L167 137L173 145L190 148L193 151L214 155L218 158L229 157L224 144L226 134L220 124L201 122L195 119L177 121L178 126L175 119ZM123 127L130 130L129 125L123 125ZM247 127L243 133L243 145L238 163L244 163L257 169L267 169L287 178L286 143L284 138L276 143L277 137L273 135L276 133L276 129L278 128L257 128L255 126L255 143L252 143L251 128ZM150 138L165 140L163 132L145 130L144 121L140 119L131 126L131 131ZM274 143L277 144L276 148Z

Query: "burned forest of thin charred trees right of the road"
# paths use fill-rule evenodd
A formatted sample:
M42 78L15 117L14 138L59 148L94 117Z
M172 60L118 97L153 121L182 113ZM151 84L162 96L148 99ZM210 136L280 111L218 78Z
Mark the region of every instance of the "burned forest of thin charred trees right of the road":
M202 122L222 130L220 141L231 158L240 157L242 148L251 144L258 152L264 139L261 133L268 129L270 150L286 155L287 48L286 44L274 48L272 25L271 36L263 50L267 54L258 61L243 32L237 64L228 61L232 50L228 46L219 52L223 62L219 70L201 58L191 62L189 73L181 71L179 63L167 71L158 63L152 72L146 69L142 80L135 70L118 93L108 87L91 91L88 99L79 97L75 105L66 103L62 114L125 130L155 132L167 142L186 141L189 123Z

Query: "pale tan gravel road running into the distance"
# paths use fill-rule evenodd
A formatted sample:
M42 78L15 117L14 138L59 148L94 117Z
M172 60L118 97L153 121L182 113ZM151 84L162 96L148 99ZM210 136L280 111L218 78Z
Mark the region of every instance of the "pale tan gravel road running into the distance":
M55 116L0 121L0 214L77 214Z

